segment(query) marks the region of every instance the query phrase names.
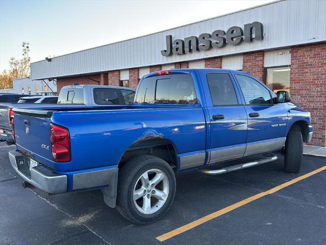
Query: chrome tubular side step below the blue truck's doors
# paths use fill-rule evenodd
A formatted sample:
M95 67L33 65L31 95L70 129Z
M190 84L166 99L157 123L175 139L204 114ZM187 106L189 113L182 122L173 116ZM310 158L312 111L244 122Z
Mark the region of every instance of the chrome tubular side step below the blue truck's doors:
M257 166L257 165L264 164L264 163L267 163L267 162L273 162L273 161L276 161L278 159L277 155L275 155L275 154L265 154L265 156L266 156L266 158L262 158L260 160L253 161L253 162L237 164L237 165L234 165L234 166L223 167L223 168L220 168L220 169L207 169L207 168L205 169L205 168L202 168L202 169L199 169L199 171L202 174L205 174L205 175L221 175L221 174L226 174L226 173L229 173L229 172L232 172L232 171L240 170L240 169L243 169L243 168Z

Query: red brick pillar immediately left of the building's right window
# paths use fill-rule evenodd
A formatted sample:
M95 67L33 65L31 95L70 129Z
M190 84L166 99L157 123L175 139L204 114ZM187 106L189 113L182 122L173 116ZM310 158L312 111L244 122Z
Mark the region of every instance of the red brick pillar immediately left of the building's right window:
M264 52L243 54L242 70L264 82Z

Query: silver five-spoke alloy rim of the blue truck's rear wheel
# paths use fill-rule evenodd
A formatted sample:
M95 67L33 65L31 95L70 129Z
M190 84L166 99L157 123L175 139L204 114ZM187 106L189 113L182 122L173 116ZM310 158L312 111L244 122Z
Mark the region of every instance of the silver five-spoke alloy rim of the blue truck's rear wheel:
M169 180L159 169L147 170L133 188L133 203L144 214L157 212L169 195Z

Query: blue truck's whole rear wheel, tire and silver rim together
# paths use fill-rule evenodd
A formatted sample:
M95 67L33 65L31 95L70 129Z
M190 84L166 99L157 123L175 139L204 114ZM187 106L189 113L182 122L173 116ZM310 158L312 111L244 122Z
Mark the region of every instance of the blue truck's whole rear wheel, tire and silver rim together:
M119 169L116 208L136 224L150 224L169 210L176 179L172 167L155 156L138 156Z

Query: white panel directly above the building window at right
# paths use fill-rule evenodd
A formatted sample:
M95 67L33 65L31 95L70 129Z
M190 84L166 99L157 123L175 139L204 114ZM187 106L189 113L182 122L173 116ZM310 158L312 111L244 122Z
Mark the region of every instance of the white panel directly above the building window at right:
M291 65L291 50L276 50L265 52L264 67Z

